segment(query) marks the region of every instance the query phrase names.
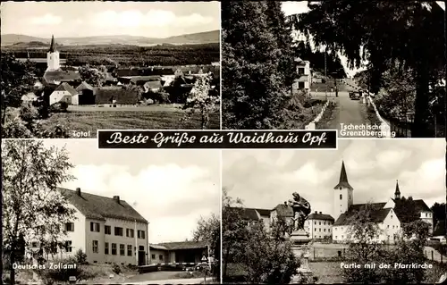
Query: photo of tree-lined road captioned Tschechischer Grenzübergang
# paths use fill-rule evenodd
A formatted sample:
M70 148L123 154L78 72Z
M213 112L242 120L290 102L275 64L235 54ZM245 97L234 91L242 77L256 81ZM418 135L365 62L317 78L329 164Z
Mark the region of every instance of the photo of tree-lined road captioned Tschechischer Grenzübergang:
M227 130L445 137L445 2L222 3Z

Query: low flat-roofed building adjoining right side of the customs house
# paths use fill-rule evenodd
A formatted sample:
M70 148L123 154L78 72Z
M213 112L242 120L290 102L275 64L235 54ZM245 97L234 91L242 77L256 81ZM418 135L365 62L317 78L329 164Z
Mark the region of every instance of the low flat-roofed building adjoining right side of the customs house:
M209 256L209 247L201 241L164 242L149 248L149 264L199 264Z

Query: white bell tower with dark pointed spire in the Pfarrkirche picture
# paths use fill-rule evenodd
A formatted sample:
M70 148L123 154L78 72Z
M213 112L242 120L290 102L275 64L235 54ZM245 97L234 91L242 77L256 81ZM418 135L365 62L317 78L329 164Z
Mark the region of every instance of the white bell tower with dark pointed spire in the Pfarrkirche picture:
M342 170L340 172L340 180L333 188L333 218L335 221L341 214L348 211L350 205L354 203L353 188L348 181L348 174L344 162L342 162Z

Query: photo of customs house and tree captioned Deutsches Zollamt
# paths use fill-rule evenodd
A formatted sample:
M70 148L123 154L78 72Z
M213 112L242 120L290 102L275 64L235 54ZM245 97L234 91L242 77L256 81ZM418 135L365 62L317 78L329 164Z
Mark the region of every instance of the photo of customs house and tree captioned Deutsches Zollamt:
M219 283L220 158L4 140L2 283Z

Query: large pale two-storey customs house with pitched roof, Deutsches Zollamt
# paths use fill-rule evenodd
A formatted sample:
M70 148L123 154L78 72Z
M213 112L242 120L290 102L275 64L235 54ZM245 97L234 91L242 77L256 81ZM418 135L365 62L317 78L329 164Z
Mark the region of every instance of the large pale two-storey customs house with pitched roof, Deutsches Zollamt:
M63 248L45 253L47 260L73 256L81 249L90 264L148 264L148 221L119 196L59 189L75 219L65 224ZM31 243L36 252L38 242Z

